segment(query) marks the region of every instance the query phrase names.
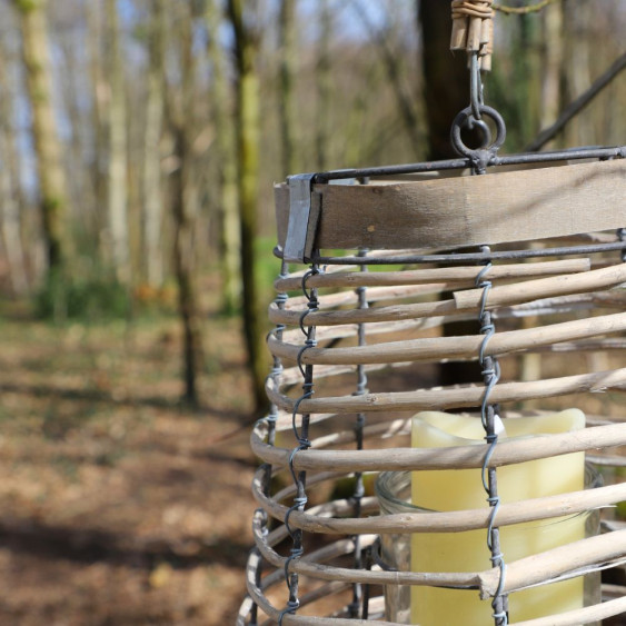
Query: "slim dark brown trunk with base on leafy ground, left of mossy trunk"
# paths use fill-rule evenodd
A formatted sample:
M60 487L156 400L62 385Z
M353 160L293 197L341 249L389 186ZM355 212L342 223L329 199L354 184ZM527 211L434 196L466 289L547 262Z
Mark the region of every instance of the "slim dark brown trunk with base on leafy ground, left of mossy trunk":
M170 6L172 7L172 6ZM195 129L192 52L192 13L188 6L172 7L181 11L180 30L180 100L168 90L166 116L173 135L177 167L170 176L171 210L175 226L173 267L178 284L178 308L183 332L185 400L199 405L198 377L203 369L202 319L197 287L198 195L195 188L191 132Z

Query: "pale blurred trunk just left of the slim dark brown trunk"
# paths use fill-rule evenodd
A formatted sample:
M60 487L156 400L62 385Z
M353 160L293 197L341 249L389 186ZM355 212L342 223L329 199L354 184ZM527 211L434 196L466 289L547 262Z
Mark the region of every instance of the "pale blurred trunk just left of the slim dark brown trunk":
M152 0L142 176L146 276L148 285L151 287L161 287L163 282L163 255L161 246L163 208L161 201L160 149L163 126L163 0Z

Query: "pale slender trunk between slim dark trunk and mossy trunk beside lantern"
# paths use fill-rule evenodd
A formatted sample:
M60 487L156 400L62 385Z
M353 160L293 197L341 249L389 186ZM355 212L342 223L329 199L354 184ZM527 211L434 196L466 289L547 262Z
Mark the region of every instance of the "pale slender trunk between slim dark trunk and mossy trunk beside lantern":
M223 310L233 312L241 301L241 239L239 232L237 162L233 123L228 108L228 85L223 71L223 50L219 42L219 4L207 3L208 54L212 69L212 117L219 159L220 252Z

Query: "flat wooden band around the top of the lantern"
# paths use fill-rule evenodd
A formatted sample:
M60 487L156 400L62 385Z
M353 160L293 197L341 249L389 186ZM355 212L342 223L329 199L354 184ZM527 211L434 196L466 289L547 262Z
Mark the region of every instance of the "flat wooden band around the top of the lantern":
M278 240L289 193L277 186ZM316 185L319 248L446 247L565 237L624 226L626 159L397 185Z

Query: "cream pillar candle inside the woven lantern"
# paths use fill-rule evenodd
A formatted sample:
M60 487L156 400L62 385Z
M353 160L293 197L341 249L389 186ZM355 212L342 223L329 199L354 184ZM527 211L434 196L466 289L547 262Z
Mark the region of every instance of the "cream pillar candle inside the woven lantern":
M525 418L504 419L506 437L567 433L585 427L585 416L568 409ZM484 444L477 417L421 413L413 419L413 446L420 448ZM501 503L539 498L584 488L585 455L575 453L498 468ZM487 507L479 469L414 471L414 506L430 510ZM585 516L519 524L500 529L506 562L514 562L585 537ZM414 572L473 572L489 567L487 530L416 533L411 537ZM583 606L583 578L574 578L509 596L511 623L562 613ZM491 606L476 590L413 587L411 622L420 626L485 626L493 622Z

